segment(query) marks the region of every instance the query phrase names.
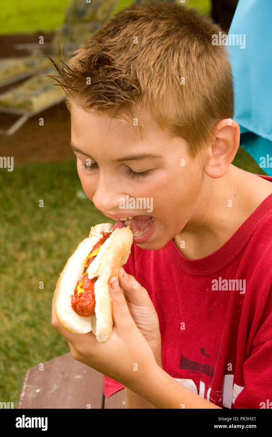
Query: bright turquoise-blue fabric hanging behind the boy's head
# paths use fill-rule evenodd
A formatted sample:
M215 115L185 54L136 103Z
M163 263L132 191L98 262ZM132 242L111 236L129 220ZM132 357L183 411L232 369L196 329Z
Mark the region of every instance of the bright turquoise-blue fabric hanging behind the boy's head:
M272 176L272 1L239 0L228 33L245 35L245 47L227 44L234 76L234 120L241 146ZM269 155L269 156L267 156ZM270 166L262 167L261 157Z

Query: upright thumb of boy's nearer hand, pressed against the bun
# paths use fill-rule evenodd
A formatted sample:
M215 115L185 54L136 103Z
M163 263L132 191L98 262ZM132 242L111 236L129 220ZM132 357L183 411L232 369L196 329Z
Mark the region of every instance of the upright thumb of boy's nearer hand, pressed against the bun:
M109 280L109 291L112 298L112 317L116 328L127 327L133 319L127 307L126 299L121 291L118 277L112 276Z

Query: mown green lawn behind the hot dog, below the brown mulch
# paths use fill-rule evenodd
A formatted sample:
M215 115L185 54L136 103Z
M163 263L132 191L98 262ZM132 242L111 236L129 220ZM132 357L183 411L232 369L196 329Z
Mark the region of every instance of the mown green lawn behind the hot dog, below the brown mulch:
M233 164L265 174L241 147ZM0 185L0 393L16 408L25 372L69 352L51 325L59 273L92 225L115 222L76 195L75 160L2 169Z

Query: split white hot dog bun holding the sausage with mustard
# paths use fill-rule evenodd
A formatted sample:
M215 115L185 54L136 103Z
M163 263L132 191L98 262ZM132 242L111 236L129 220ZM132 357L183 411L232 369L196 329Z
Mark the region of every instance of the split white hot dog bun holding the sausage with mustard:
M90 317L79 316L71 306L77 281L84 272L86 257L101 238L101 232L112 232L87 269L89 278L98 277L94 284L95 313ZM108 280L118 277L120 266L127 262L133 242L131 229L117 228L110 223L92 226L88 238L79 243L67 261L56 284L54 293L55 313L64 329L74 334L92 331L99 343L106 343L112 334L111 297Z

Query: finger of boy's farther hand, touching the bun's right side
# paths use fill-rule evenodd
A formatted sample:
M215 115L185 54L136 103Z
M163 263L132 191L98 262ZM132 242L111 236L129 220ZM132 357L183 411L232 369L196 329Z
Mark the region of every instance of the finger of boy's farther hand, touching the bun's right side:
M130 302L135 305L150 305L152 303L151 298L148 295L147 290L139 284L138 281L124 271L123 267L119 270L119 282L120 287L124 290L125 296ZM153 304L152 304L153 305Z

